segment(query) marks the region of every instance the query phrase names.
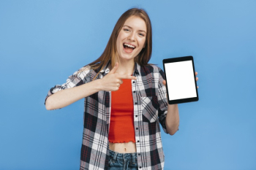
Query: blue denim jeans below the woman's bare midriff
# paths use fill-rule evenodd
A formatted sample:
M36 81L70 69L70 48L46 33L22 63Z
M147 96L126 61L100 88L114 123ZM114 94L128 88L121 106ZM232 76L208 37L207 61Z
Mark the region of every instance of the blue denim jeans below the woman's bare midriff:
M137 170L137 153L119 153L110 150L109 170Z

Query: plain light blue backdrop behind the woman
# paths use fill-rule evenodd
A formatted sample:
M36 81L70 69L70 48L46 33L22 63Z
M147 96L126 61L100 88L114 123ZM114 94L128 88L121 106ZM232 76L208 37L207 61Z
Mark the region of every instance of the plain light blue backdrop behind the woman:
M153 26L150 63L193 55L200 101L162 133L165 169L256 169L256 1L0 1L0 169L79 169L83 100L48 90L102 54L131 7ZM163 131L162 131L163 132Z

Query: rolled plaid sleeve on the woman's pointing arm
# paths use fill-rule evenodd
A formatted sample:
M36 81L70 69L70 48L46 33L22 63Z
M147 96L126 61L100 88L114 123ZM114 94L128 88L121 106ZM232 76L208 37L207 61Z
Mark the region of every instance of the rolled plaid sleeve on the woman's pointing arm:
M53 95L54 93L60 90L64 90L66 88L74 88L76 86L85 84L87 82L86 76L89 72L89 66L83 67L71 76L69 76L64 84L55 85L53 88L50 88L50 90L48 91L48 95L45 98L45 102L49 96Z

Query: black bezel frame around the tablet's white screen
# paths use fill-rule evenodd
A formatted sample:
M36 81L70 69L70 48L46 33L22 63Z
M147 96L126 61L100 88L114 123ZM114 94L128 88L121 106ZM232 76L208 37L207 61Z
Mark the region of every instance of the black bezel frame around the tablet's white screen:
M192 55L189 56L184 56L184 57L178 57L178 58L166 58L164 60L162 60L163 66L164 66L164 71L165 71L165 63L175 63L175 62L179 62L179 61L192 61L192 65L193 65L193 72L194 72L194 80L196 79L195 77L195 66L194 66L194 59L192 57ZM197 92L197 96L196 97L192 97L192 98L181 98L181 99L176 99L176 100L169 100L169 92L167 89L167 77L165 74L165 82L166 82L166 91L167 91L167 101L168 104L181 104L181 103L187 103L187 102L192 102L192 101L198 101L198 92L197 92L197 81L195 80L195 90Z

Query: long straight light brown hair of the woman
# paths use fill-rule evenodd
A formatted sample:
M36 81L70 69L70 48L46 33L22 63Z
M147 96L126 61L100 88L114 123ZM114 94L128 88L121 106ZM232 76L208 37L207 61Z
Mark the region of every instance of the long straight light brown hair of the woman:
M121 31L121 28L124 26L125 21L132 17L136 16L139 18L142 18L146 23L146 42L145 47L140 51L140 53L135 57L135 62L140 64L140 66L146 66L148 64L148 61L151 58L152 53L152 28L151 28L151 21L148 17L147 12L144 9L138 9L138 8L132 8L124 12L123 15L118 19L116 22L116 26L113 28L112 34L110 36L110 39L108 40L108 44L105 47L104 52L102 55L100 55L97 60L89 63L87 66L90 66L90 69L99 69L99 72L104 69L104 67L107 65L108 61L111 61L111 66L115 65L117 61L117 50L116 50L116 39L118 37L119 32ZM97 75L99 74L97 73ZM94 77L97 77L97 75Z

